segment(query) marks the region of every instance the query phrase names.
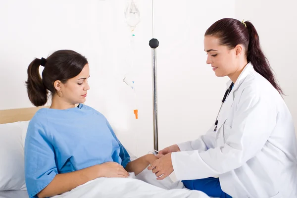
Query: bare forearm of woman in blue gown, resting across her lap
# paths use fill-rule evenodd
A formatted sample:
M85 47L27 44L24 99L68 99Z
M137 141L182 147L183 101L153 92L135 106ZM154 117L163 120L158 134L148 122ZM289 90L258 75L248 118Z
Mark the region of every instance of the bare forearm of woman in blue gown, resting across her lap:
M82 170L57 174L49 185L37 194L38 198L52 197L71 191L72 189L100 177L98 167L92 166Z

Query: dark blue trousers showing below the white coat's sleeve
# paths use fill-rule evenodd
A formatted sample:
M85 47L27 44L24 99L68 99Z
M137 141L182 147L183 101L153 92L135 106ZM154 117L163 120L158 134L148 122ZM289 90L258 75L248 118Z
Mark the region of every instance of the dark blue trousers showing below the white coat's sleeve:
M183 180L182 182L187 189L202 191L209 197L232 198L222 191L219 178L209 177L198 180Z

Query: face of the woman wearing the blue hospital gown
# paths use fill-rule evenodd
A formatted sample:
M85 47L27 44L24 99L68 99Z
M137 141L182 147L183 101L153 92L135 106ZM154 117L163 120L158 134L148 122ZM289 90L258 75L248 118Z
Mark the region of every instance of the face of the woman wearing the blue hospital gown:
M90 77L90 68L86 64L79 75L71 78L67 83L62 84L62 98L72 104L83 103L86 101L87 92L90 89L88 78Z

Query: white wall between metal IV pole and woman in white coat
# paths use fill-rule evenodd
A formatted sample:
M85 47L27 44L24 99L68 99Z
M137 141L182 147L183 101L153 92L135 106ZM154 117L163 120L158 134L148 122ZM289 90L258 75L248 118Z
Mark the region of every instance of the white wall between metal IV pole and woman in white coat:
M212 23L234 17L234 4L155 0L160 149L197 139L215 121L227 79L206 64L203 39Z

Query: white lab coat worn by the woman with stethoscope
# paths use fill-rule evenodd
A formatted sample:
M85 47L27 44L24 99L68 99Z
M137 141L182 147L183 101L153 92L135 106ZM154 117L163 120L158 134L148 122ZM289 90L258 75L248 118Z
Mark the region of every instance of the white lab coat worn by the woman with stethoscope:
M234 198L297 198L292 116L250 63L222 106L217 132L214 128L198 140L178 144L181 152L172 153L178 180L219 175L222 190Z

